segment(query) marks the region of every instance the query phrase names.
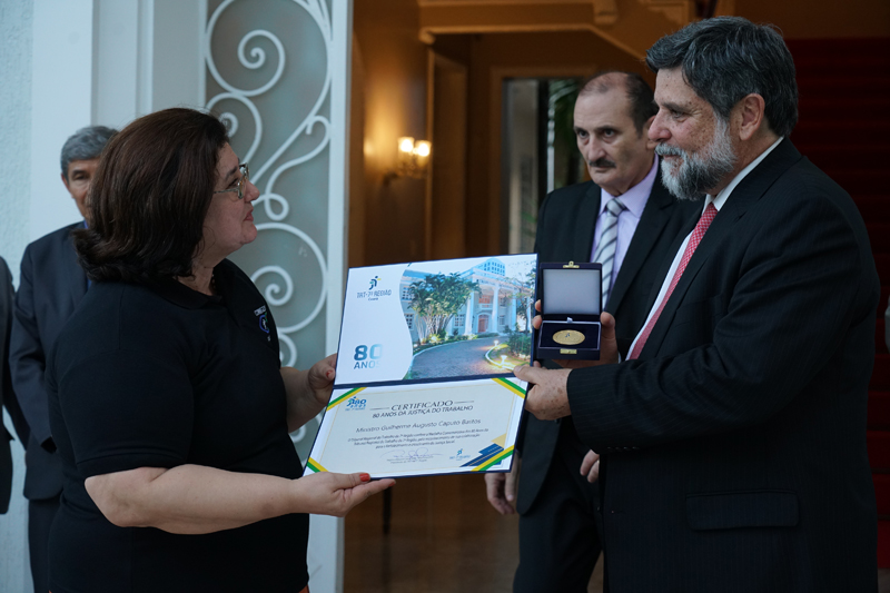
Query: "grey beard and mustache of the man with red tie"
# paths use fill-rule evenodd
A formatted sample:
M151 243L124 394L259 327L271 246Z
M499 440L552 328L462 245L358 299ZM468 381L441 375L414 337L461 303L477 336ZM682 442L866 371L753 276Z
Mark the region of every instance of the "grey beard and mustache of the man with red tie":
M668 191L681 200L701 198L709 189L716 187L735 167L735 152L730 141L729 123L716 118L714 137L698 152L686 152L681 148L668 145L655 147L655 154L662 157L676 156L683 159L680 168L674 170L668 160L661 161L661 180Z

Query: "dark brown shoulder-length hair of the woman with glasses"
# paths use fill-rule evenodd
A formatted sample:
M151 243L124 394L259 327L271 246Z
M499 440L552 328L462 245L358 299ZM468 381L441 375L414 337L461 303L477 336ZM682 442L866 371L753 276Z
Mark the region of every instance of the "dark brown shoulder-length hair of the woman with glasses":
M216 117L182 108L141 117L115 136L92 179L89 228L75 233L87 276L191 276L226 142Z

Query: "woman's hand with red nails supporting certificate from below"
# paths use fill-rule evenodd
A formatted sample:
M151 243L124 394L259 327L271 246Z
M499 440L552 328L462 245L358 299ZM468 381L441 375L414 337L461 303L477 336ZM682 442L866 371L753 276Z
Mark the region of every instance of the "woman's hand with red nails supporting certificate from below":
M344 517L354 506L395 483L392 478L370 482L370 476L362 473L319 472L295 480L294 486L300 512Z

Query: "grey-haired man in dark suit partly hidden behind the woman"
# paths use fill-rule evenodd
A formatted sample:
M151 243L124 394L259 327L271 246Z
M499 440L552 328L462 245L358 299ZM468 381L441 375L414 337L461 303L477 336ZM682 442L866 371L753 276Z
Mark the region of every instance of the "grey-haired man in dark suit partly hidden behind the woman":
M34 591L48 590L48 540L62 491L61 463L49 429L43 370L65 323L87 293L87 275L77 261L71 231L89 223L87 196L99 156L116 130L78 130L62 147L61 178L83 220L37 239L24 249L16 295L10 367L12 385L30 427L24 453L24 496Z

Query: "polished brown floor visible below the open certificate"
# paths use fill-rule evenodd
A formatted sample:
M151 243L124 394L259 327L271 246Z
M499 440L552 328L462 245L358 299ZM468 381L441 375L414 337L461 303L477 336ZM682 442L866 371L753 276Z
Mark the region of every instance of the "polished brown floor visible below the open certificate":
M508 593L517 564L518 522L485 500L482 476L399 480L383 534L383 496L346 517L346 593ZM602 562L589 593L602 591ZM890 570L879 571L890 593Z

